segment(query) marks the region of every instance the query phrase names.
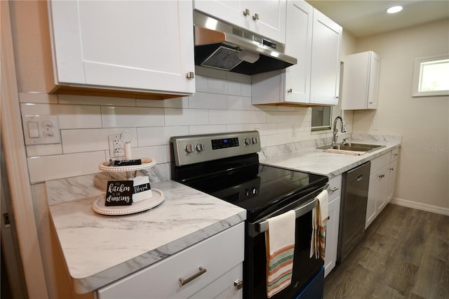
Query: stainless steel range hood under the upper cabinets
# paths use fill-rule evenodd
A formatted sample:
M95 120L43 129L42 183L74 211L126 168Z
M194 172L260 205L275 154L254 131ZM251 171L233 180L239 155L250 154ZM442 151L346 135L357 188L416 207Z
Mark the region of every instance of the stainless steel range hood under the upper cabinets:
M241 74L285 69L297 63L284 45L194 11L195 64Z

